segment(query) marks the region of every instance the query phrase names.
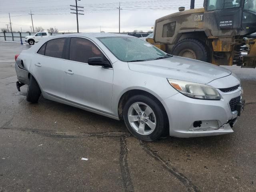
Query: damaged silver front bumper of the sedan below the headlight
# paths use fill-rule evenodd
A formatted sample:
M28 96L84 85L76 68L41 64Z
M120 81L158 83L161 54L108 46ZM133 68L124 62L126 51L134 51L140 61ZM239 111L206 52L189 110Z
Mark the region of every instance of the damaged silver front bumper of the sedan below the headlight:
M221 100L193 99L178 93L162 101L168 115L170 136L200 137L234 132L238 112L231 111L229 102L240 97L241 90L222 95ZM201 122L200 126L195 126Z

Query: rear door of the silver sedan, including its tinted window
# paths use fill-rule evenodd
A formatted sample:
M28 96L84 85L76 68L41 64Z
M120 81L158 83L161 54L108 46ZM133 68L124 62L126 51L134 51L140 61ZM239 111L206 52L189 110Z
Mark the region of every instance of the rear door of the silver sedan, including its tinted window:
M66 38L56 38L46 42L32 61L35 78L46 94L65 98L64 66Z

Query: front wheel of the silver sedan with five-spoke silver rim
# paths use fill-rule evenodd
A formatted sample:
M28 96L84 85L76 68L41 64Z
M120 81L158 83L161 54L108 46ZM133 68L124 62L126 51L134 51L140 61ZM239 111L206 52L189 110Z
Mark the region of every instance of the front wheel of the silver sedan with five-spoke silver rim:
M134 106L135 108L139 106L140 110L135 110ZM137 111L141 111L142 113L138 114ZM146 114L147 112L148 114ZM138 120L138 117L140 117L140 120ZM168 125L168 118L165 115L164 108L155 99L145 95L132 96L126 102L123 110L123 118L130 133L143 141L159 139L165 133ZM139 127L143 125L144 128L140 129Z

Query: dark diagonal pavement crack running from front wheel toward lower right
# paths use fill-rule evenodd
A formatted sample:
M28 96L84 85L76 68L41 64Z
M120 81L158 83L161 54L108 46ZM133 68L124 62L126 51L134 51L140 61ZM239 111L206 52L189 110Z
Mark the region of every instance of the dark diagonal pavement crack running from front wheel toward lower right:
M174 175L184 186L187 188L189 192L200 192L197 186L192 184L186 176L184 176L182 173L178 172L176 168L170 166L167 164L166 161L164 161L158 154L156 154L153 150L149 148L149 146L146 144L146 142L140 140L140 146L142 149L144 149L150 156L152 156L155 160L162 163L163 167L168 170L172 175Z

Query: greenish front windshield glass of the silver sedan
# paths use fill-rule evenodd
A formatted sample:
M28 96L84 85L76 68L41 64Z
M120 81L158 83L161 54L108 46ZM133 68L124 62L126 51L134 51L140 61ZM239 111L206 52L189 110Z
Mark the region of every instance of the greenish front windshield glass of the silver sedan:
M124 62L148 61L168 58L171 55L152 44L136 37L101 37L98 38L115 56Z

